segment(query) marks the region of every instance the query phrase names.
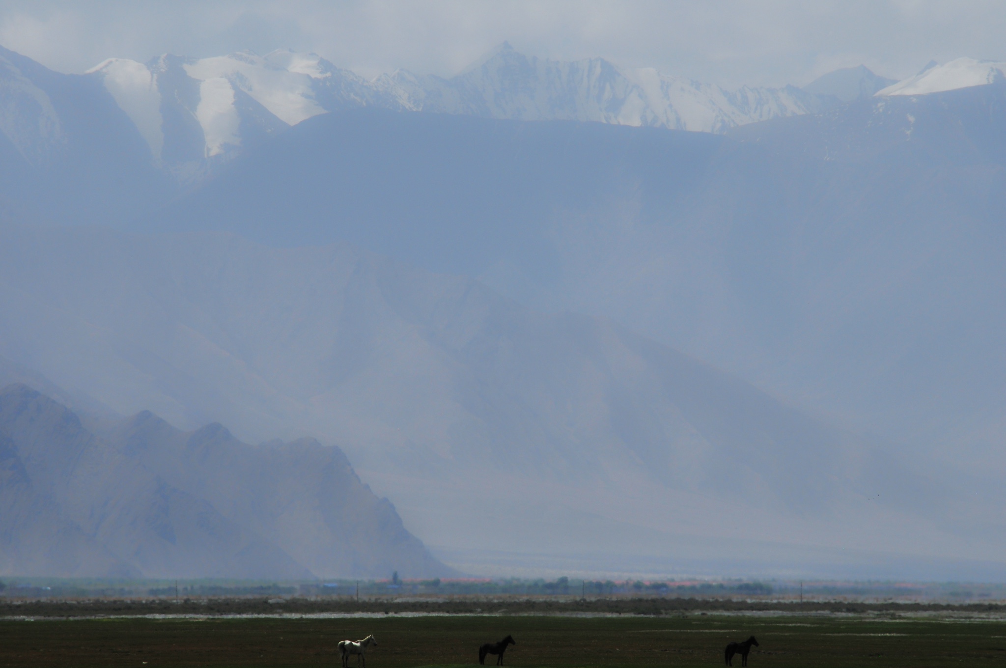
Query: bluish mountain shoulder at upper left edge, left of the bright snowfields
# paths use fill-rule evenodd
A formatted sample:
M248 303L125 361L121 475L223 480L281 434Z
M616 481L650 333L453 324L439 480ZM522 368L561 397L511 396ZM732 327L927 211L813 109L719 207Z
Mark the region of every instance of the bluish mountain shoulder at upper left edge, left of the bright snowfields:
M60 74L0 47L0 205L20 216L121 219L159 201L170 185L93 77Z

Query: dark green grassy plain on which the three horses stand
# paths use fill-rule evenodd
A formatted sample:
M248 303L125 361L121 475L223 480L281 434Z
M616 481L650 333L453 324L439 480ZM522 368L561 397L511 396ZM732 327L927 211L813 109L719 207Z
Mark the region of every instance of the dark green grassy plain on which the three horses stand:
M336 643L374 634L369 668L471 666L512 634L506 665L720 666L754 635L748 665L1001 666L1006 622L844 616L418 617L0 621L0 666L337 666ZM487 663L491 663L491 659ZM355 665L351 662L350 665ZM734 660L740 665L739 658Z

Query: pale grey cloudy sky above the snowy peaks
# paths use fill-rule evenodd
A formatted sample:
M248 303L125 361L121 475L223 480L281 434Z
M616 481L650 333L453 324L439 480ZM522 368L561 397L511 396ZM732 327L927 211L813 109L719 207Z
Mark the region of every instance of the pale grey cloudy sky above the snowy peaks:
M1006 2L990 0L0 0L0 45L65 72L292 47L367 76L451 75L506 40L729 88L803 86L860 63L901 78L931 59L1003 60L1004 36Z

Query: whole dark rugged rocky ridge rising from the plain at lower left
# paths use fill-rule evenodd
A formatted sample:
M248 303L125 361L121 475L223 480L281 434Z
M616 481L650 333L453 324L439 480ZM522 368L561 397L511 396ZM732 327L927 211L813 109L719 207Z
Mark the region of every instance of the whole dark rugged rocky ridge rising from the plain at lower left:
M149 412L96 437L23 384L0 390L0 572L147 577L445 573L337 448L252 447Z

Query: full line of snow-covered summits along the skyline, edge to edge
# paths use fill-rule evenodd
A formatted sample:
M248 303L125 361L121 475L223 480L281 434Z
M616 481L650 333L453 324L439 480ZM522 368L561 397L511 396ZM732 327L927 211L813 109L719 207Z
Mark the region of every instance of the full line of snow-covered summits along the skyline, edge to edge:
M66 142L66 119L53 107L44 81L37 80L44 68L5 53L11 57L0 53L0 132L37 165ZM758 121L822 112L856 97L925 95L990 84L1003 77L1004 69L1006 63L959 58L945 65L931 63L897 82L860 66L830 72L805 89L727 91L653 68L620 67L603 58L565 62L527 56L504 43L450 78L399 69L368 80L317 54L291 50L198 59L165 54L147 63L110 58L80 78L104 87L146 141L153 164L186 182L306 119L349 108L718 134Z

